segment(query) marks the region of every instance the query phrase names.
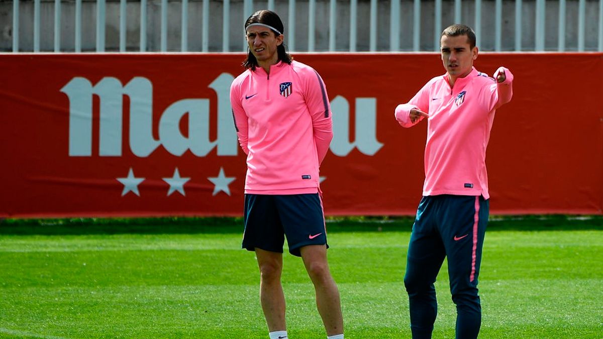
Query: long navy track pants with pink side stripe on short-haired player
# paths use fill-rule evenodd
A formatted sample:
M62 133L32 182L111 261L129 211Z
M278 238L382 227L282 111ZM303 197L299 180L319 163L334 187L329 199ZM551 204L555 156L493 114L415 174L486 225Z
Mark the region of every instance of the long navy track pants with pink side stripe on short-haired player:
M489 210L489 200L481 196L433 195L421 199L404 277L413 339L431 338L438 309L434 282L445 257L456 304L456 339L478 337L478 276Z

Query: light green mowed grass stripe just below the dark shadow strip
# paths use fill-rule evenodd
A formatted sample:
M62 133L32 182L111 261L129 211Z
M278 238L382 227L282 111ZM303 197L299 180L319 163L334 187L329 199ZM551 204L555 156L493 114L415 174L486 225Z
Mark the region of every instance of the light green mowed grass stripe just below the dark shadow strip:
M600 230L486 232L485 246L504 247L603 247ZM602 226L603 230L603 226ZM242 232L242 230L241 230ZM563 232L563 233L560 233ZM395 232L330 232L333 248L406 248L409 229ZM518 235L521 235L518 237ZM119 234L119 235L0 235L0 252L77 252L113 250L239 250L240 233Z

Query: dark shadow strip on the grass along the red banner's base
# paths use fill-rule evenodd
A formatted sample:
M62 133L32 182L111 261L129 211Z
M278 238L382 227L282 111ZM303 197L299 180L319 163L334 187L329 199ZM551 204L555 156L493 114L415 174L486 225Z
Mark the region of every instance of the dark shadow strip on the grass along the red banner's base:
M410 232L414 217L329 217L328 232ZM0 235L242 233L242 218L6 219ZM490 218L488 232L603 230L603 216L523 215Z

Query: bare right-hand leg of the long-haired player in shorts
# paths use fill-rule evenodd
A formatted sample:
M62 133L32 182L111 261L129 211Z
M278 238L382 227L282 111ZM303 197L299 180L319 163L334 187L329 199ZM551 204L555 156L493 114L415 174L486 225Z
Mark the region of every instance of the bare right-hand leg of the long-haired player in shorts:
M343 334L343 315L339 290L329 271L327 247L324 245L304 246L300 249L306 271L316 290L318 313L323 318L327 335Z

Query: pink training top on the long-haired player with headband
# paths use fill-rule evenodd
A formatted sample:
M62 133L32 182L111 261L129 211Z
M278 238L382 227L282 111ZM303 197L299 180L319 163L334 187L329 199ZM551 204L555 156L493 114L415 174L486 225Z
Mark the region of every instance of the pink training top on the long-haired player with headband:
M333 125L320 75L299 62L279 62L270 75L247 69L230 86L241 148L247 154L245 193L317 193L318 166Z

